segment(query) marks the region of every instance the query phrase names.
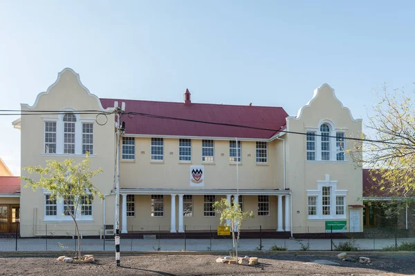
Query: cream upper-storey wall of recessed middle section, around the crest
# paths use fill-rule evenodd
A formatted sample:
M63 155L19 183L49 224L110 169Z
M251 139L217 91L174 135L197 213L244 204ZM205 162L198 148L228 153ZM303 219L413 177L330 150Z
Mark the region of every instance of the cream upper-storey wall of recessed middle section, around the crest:
M213 163L202 160L202 140L192 139L192 161L178 160L178 139L164 139L164 161L151 161L151 138L136 138L136 160L121 162L122 188L178 188L190 186L190 165L205 166L205 189L237 188L237 168L230 162L229 141L214 141ZM283 188L282 141L268 143L268 164L256 163L255 141L242 141L239 188ZM223 156L222 156L223 154ZM250 155L250 156L249 156Z

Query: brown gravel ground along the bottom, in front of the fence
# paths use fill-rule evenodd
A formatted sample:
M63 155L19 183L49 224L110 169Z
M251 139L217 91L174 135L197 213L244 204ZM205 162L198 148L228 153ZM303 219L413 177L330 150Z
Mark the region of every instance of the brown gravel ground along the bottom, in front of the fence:
M0 257L0 275L414 275L414 256L374 257L372 265L328 255L261 255L258 266L216 264L216 255L95 256L93 264L65 264L52 257ZM222 256L223 257L223 256ZM252 256L250 256L252 257ZM339 266L304 264L317 259Z

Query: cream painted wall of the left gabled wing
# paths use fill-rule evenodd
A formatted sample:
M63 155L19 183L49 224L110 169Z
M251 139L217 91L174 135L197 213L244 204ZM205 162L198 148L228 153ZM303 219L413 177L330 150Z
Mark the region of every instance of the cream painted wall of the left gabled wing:
M78 81L77 75L72 70L64 70L60 73L59 81L48 88L48 93L39 95L33 108L26 105L21 106L26 110L64 110L74 108L75 110L101 110L98 98L89 95L89 92ZM84 155L44 155L44 118L56 118L57 115L30 115L21 117L21 168L26 166L45 166L46 160L74 159L75 162L82 161ZM95 119L96 115L80 115L81 119ZM102 118L101 118L102 119ZM97 175L93 182L101 193L108 194L113 187L114 181L114 122L113 115L108 115L107 124L100 126L94 123L93 145L94 152L91 155L91 169L102 168L104 172ZM22 170L21 175L28 175ZM33 192L31 188L24 188L25 181L21 181L21 224L36 224L40 228L44 225L44 195L41 189ZM113 202L113 201L112 201ZM109 200L109 204L111 200ZM109 210L114 208L109 208ZM93 221L82 223L89 226L102 226L102 204L100 199L93 202ZM108 212L111 216L113 211ZM59 221L58 221L59 223ZM63 222L60 222L62 225ZM112 223L113 224L113 223ZM21 228L21 235L32 235L33 229Z

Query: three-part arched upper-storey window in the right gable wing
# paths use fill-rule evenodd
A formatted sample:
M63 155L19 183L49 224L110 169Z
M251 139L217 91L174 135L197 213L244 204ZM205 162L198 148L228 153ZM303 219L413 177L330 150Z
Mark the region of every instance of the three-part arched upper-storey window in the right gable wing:
M306 159L345 161L344 139L344 131L336 129L331 122L324 122L318 128L307 128Z

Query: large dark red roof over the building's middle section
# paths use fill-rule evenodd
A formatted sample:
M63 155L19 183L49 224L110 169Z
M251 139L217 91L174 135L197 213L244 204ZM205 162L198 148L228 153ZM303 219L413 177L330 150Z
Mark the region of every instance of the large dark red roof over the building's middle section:
M228 106L211 103L174 103L165 101L138 101L131 99L100 99L104 108L114 101L125 102L126 112L140 112L164 117L237 124L256 128L284 130L288 114L281 107ZM124 116L127 134L173 135L190 137L230 137L268 139L277 132L233 126L218 126L172 119L149 118L139 115Z

